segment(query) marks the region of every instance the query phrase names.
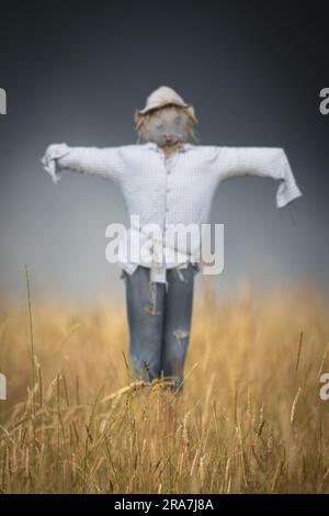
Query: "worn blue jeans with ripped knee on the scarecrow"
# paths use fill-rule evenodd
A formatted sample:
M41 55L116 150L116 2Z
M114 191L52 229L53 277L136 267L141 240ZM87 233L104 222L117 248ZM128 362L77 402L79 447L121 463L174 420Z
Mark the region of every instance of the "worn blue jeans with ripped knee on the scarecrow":
M138 266L133 274L123 271L134 379L163 378L170 388L182 391L195 272L191 263L169 269L166 289L163 283L150 283L147 267Z

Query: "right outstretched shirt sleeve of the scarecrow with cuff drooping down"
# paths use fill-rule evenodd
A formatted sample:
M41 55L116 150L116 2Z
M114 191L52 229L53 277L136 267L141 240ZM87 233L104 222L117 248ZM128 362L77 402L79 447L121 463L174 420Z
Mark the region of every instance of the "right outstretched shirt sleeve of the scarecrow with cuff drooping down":
M276 207L284 207L302 195L283 148L222 147L219 162L220 181L246 175L280 181L276 190Z

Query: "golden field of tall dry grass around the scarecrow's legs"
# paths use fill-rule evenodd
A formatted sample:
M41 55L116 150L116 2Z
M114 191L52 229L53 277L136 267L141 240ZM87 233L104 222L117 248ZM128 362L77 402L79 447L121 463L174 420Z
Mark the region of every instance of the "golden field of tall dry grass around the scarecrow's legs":
M178 396L132 382L124 306L2 301L0 490L328 493L328 337L310 288L206 290Z

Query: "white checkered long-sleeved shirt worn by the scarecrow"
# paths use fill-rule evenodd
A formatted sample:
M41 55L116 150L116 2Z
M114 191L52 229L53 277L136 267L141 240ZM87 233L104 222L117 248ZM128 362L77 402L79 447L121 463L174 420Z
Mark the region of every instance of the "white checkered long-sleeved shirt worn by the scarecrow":
M197 224L208 220L217 186L237 176L254 175L280 182L276 206L283 207L302 195L293 176L285 152L277 147L217 147L183 144L166 157L155 143L122 145L118 147L69 147L66 144L50 145L43 157L45 170L57 182L63 169L101 176L118 184L127 210L134 218L139 217L139 227L131 224L128 240L134 242L136 232L143 235L138 245L144 245L149 233L143 227L157 224L164 237L156 245L156 256L161 263L151 266L155 282L166 283L166 271L170 267L185 267L200 259L200 240L189 249L177 249L174 262L166 260L169 244L167 225ZM141 228L141 231L140 231ZM120 262L124 270L133 273L141 259L132 260L127 242L121 248ZM154 239L150 244L155 244ZM134 243L133 243L134 245ZM139 256L138 249L135 256ZM158 260L159 261L159 260Z

